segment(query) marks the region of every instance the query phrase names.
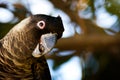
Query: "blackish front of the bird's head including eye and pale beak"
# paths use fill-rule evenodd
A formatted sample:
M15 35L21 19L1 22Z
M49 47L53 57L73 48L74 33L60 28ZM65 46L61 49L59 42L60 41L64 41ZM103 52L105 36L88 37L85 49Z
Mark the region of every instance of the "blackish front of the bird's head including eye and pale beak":
M36 29L40 32L39 44L32 55L34 57L40 57L48 53L54 47L57 40L61 38L64 27L60 16L34 15L31 18L31 22L35 22L32 25L36 25Z

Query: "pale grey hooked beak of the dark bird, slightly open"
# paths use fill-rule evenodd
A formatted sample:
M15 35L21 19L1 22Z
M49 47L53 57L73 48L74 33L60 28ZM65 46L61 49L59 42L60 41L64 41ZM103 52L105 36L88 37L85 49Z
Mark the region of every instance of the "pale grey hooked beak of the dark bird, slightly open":
M36 49L33 51L32 55L34 57L40 57L48 52L55 46L57 41L57 34L48 33L41 36L40 43L37 45Z

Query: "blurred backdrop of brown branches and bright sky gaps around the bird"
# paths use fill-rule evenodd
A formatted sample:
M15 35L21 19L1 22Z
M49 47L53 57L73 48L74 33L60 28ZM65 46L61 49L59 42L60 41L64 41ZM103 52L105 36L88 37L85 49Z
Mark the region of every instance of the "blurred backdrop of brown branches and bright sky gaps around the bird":
M52 80L120 79L120 0L0 0L0 38L32 14L63 20L46 55Z

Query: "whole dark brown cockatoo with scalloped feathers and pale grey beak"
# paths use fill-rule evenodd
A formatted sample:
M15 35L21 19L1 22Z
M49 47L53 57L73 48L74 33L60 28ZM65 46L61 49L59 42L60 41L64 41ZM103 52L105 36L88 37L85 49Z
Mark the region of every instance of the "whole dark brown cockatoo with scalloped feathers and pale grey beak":
M63 31L60 16L43 14L32 15L14 26L0 40L0 80L51 80L44 54Z

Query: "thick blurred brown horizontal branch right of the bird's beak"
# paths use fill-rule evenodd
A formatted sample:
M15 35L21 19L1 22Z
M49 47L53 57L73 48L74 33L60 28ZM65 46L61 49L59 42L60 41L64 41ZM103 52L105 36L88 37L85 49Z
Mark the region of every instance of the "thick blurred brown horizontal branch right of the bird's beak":
M75 35L60 39L56 45L60 50L90 50L120 52L120 35Z

